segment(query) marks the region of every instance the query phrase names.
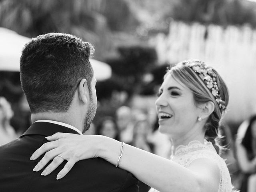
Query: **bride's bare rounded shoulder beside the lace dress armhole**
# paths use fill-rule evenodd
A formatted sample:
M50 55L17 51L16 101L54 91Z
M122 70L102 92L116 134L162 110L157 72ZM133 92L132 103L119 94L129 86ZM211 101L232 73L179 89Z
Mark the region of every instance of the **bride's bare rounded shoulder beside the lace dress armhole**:
M216 192L220 184L220 168L218 164L210 158L198 158L188 167L191 170L203 191Z

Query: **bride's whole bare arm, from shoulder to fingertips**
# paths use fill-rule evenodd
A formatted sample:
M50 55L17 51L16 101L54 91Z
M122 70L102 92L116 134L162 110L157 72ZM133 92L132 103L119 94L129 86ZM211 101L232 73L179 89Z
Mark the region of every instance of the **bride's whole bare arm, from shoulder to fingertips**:
M58 133L53 137L55 138L50 140L64 138L65 134ZM61 177L63 177L75 162L82 159L101 157L116 165L120 148L120 142L104 136L76 136L73 139L48 142L39 148L34 156L38 157L53 149L47 152L38 163L40 170L50 159L56 157L57 154L61 154L68 160L66 166L60 172ZM63 162L60 157L54 159L56 160L52 162L52 165L50 164L50 167L46 168L47 174ZM119 167L128 170L139 180L161 192L216 192L220 181L220 170L211 160L201 158L195 160L190 168L184 168L175 162L127 144L124 144Z

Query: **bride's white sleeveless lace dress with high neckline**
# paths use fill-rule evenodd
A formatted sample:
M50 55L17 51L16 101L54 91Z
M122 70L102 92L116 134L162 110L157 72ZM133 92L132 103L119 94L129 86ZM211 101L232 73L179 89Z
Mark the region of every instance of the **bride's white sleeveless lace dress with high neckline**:
M214 149L211 142L205 142L202 144L199 141L191 141L188 145L178 146L176 148L174 156L171 156L171 160L186 168L198 158L209 158L214 160L220 168L220 185L218 192L232 192L231 178L228 171L228 167L224 159L222 159ZM151 188L149 192L158 192Z

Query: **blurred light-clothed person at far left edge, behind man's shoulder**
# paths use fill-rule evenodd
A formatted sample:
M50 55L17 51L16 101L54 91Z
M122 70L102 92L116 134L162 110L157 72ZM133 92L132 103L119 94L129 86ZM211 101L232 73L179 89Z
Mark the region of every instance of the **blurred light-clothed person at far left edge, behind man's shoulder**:
M9 102L0 97L0 145L17 138L14 128L10 125L13 111Z

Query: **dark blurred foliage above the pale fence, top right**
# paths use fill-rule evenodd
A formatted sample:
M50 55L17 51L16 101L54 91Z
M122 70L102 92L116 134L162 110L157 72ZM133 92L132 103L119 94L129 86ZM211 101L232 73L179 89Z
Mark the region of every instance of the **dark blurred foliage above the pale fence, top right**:
M255 3L241 0L177 0L166 17L223 26L248 23L255 27L255 8Z

